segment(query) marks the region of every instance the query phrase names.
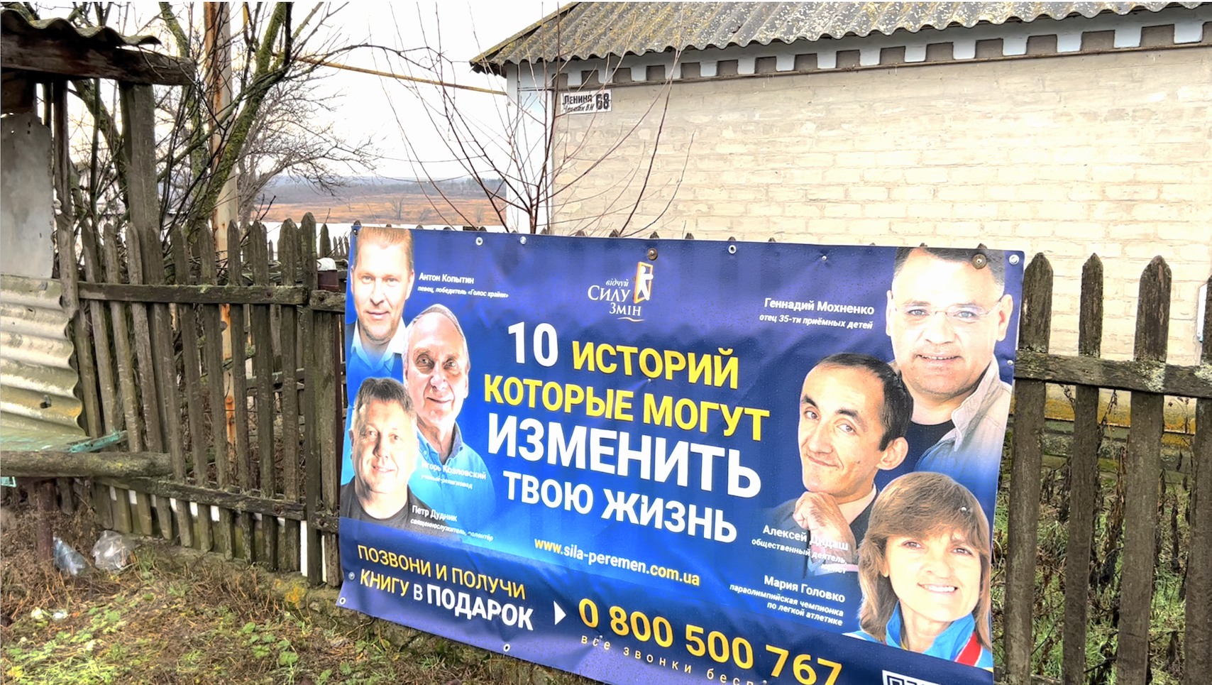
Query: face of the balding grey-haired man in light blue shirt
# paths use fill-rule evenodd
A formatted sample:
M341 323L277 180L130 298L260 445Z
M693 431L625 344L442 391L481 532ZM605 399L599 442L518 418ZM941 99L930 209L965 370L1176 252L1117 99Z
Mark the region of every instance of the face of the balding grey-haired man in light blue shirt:
M467 342L442 314L422 316L408 332L408 394L422 432L448 433L468 395Z

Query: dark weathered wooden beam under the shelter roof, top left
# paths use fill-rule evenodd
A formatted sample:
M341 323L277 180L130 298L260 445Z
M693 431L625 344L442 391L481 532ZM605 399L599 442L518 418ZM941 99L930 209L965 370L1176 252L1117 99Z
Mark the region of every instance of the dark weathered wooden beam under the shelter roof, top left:
M5 69L24 69L48 78L113 79L141 85L185 86L194 81L189 59L136 48L98 50L87 41L46 40L4 34L0 55Z

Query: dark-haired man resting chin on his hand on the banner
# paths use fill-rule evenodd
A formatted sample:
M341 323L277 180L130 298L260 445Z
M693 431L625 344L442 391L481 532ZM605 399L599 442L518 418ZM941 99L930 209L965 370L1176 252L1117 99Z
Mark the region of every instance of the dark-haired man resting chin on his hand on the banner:
M875 474L905 456L913 399L891 366L865 354L821 360L800 392L805 492L777 507L764 532L804 544L778 555L788 576L854 571L875 502ZM770 530L773 529L773 530Z

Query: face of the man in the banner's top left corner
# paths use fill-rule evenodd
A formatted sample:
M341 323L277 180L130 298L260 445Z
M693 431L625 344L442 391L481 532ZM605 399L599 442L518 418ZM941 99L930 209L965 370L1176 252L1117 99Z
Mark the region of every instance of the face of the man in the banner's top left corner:
M404 319L404 303L412 290L407 245L358 245L358 261L349 274L358 332L362 346L382 352Z

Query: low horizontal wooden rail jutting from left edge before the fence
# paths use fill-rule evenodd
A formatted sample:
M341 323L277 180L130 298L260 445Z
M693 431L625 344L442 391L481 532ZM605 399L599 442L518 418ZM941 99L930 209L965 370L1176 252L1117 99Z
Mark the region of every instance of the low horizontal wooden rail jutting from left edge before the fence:
M0 473L17 478L152 476L172 473L164 452L52 452L8 451L0 457Z

